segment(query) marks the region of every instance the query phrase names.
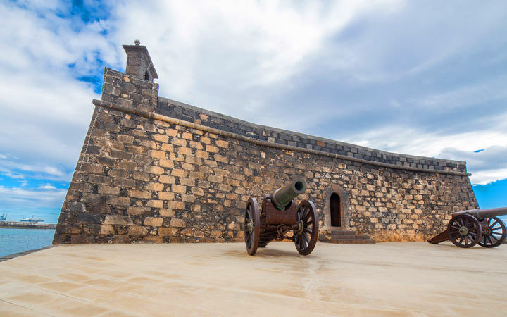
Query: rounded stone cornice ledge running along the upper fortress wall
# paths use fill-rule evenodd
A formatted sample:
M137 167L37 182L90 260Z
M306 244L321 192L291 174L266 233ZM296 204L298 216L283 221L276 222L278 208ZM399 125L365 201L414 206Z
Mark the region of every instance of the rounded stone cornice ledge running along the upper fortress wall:
M432 169L432 168L413 168L413 167L410 167L410 166L397 166L397 165L394 165L394 164L375 162L375 161L368 161L368 160L365 160L365 159L358 159L358 158L351 157L351 156L334 154L334 153L329 153L329 152L325 152L325 151L317 151L317 150L314 150L314 149L305 149L305 148L301 148L301 147L294 147L292 145L273 143L273 142L263 141L263 140L260 140L260 139L253 139L251 137L245 137L244 135L238 135L238 134L236 134L234 132L227 132L227 131L211 128L211 127L208 127L206 125L199 125L197 123L192 123L192 122L189 122L189 121L184 121L184 120L180 120L180 119L177 119L177 118L172 118L172 117L169 117L169 116L163 116L163 115L158 114L158 113L153 113L153 112L148 112L148 111L142 111L142 110L139 110L139 109L136 109L136 108L133 108L133 107L120 106L118 104L111 104L111 102L108 102L108 101L102 101L102 100L94 99L92 102L93 102L93 104L95 106L100 106L100 107L104 107L104 108L110 108L112 110L122 111L122 112L125 112L125 113L131 113L131 114L134 114L134 115L137 115L137 116L142 116L144 118L151 118L151 119L154 119L154 120L161 120L161 121L164 121L164 122L167 122L167 123L172 123L172 124L175 124L175 125L182 125L182 126L187 127L187 128L194 128L194 129L205 131L205 132L211 132L211 133L215 133L215 135L222 135L223 137L232 137L233 139L239 139L241 141L249 142L251 144L261 145L263 147L273 147L273 148L277 148L277 149L286 149L286 150L289 150L289 151L299 151L299 152L308 153L308 154L315 154L315 155L319 155L319 156L327 156L327 157L330 157L330 158L333 158L333 159L341 159L341 160L344 160L344 161L352 161L352 162L370 164L370 165L374 165L374 166L382 166L382 167L385 167L385 168L392 168L392 169L396 169L396 170L410 170L410 171L413 171L413 172L449 174L449 175L460 175L460 176L470 176L470 175L472 175L470 173L459 172L459 171L456 171L456 170L435 170L435 169Z

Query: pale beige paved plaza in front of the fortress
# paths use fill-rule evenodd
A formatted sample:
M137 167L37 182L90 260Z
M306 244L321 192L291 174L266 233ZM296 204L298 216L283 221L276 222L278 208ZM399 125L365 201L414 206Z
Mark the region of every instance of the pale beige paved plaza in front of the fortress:
M0 316L505 316L506 260L426 242L59 246L0 263Z

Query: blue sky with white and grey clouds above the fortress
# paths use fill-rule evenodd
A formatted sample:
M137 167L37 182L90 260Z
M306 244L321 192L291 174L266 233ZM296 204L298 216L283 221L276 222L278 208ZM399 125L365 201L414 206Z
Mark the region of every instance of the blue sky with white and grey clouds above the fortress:
M375 149L465 160L507 206L505 1L0 0L0 214L55 222L121 44L160 93ZM280 118L283 118L282 120Z

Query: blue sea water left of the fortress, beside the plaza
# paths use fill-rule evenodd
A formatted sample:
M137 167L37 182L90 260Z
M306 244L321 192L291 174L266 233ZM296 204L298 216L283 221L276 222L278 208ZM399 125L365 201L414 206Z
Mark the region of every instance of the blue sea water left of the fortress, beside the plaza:
M0 257L40 249L53 242L54 229L0 228Z

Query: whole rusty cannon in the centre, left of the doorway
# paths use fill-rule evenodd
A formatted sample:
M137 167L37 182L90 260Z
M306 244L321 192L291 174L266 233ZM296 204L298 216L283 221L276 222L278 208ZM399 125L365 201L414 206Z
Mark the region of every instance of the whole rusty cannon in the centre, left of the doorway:
M294 198L306 190L304 180L265 195L259 211L257 200L250 197L246 203L244 232L246 251L256 254L258 247L266 247L272 240L294 241L299 254L311 254L318 240L318 214L312 201L303 200L296 205ZM292 237L287 233L292 231Z

